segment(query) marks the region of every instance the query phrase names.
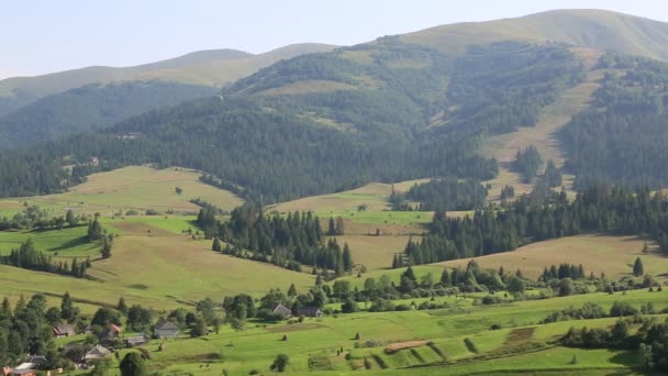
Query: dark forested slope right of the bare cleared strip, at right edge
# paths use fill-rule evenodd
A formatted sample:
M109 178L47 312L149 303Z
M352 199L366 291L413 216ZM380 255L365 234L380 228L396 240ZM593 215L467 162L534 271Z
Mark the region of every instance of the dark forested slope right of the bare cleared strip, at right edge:
M610 180L666 187L668 64L608 54L599 66L612 71L594 92L593 108L574 117L563 132L576 185Z

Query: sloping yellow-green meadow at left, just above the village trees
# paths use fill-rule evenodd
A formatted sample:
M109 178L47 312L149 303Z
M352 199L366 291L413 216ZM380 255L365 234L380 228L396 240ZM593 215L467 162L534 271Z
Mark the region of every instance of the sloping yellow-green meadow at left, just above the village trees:
M82 237L86 226L38 233L0 232L0 251L7 252L31 237L38 250L58 258L93 259L91 279L77 279L0 265L2 294L15 299L36 291L97 306L115 305L120 297L156 310L191 305L226 295L258 296L270 288L287 290L291 283L300 290L313 284L308 274L231 257L211 251L211 241L193 241L181 230L192 226L190 218L127 218L103 220L105 229L120 234L109 259L99 258L99 244ZM154 226L154 222L163 225ZM197 230L197 229L196 229ZM81 258L80 258L81 259ZM248 284L253 280L253 284Z

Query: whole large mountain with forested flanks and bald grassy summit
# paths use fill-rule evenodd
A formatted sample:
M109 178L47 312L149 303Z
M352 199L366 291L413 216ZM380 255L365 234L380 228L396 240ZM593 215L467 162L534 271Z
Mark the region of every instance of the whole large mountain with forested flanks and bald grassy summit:
M563 144L555 141L568 159L565 168L580 187L594 179L665 187L668 175L653 170L668 161L660 147L668 136L661 126L668 122L668 64L617 52L587 55L572 44L608 48L620 33L611 20L619 18L664 27L610 12L557 11L283 59L223 88L224 100L199 98L94 134L0 153L0 174L10 177L0 181L0 195L59 191L91 172L147 163L203 170L211 175L208 181L263 203L371 180L486 180L499 167L481 153L482 141L534 126L593 66L602 77L589 84L603 88L591 89L592 102L582 103L564 126ZM543 19L549 21L543 36L515 35ZM559 34L549 26L559 22L574 30ZM509 26L515 23L520 26ZM469 30L471 38L450 41L457 30ZM595 38L582 36L592 30ZM564 35L571 43L558 40ZM601 130L610 134L598 137ZM624 164L615 163L620 155ZM71 175L62 170L65 165L74 165Z

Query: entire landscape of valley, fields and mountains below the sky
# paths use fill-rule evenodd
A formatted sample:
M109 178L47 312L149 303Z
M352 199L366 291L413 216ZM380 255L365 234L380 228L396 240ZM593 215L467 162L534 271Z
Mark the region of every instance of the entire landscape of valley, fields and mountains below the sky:
M0 80L4 376L665 374L666 45L556 10Z

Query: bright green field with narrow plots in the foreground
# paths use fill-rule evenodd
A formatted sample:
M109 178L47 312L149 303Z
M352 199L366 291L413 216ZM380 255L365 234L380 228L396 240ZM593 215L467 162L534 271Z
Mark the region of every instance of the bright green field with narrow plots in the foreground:
M307 319L303 323L261 324L249 322L242 331L223 327L204 339L159 341L145 347L148 366L162 374L247 375L268 372L274 356L290 356L289 374L326 372L335 375L471 375L550 374L604 375L635 366L637 357L626 351L580 350L555 345L568 328L608 328L616 319L566 321L537 324L564 307L593 301L609 309L613 301L633 305L653 301L668 307L667 292L630 291L609 296L591 294L501 306L470 306L465 309L338 314ZM470 300L470 299L469 299ZM657 317L663 320L665 316ZM501 329L490 330L492 323ZM355 340L359 334L360 340ZM282 341L283 335L287 341ZM376 343L358 347L356 343ZM343 353L341 349L343 347ZM388 351L390 347L392 351ZM398 350L401 349L401 350ZM121 355L130 350L122 350ZM337 354L338 353L338 354ZM571 364L572 356L578 364ZM361 368L361 369L359 369Z

